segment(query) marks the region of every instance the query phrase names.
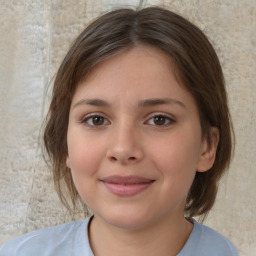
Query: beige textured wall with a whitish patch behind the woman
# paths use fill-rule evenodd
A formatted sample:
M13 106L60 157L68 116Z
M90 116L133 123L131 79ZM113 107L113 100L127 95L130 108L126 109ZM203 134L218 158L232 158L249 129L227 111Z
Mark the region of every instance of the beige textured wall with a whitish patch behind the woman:
M173 0L218 51L236 132L236 153L207 224L241 255L256 255L256 1ZM129 4L127 4L129 3ZM0 0L0 243L69 221L37 144L47 84L70 42L91 19L131 0Z

